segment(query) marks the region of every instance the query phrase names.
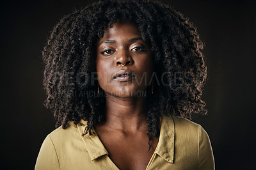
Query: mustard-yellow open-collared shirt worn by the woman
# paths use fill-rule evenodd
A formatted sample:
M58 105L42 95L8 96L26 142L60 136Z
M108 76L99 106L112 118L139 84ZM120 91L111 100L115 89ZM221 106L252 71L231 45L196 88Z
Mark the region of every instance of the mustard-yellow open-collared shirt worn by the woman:
M47 135L36 170L118 169L97 135L82 136L86 121L81 123L84 125L70 122L67 129L59 127ZM214 169L211 143L204 128L184 118L161 117L159 142L146 169Z

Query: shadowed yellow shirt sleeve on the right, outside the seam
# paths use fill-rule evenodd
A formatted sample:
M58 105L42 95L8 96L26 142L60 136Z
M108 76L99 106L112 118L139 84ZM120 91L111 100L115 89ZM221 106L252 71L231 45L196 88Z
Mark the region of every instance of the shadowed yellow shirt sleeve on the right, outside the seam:
M198 160L199 169L215 169L212 146L207 132L198 125Z

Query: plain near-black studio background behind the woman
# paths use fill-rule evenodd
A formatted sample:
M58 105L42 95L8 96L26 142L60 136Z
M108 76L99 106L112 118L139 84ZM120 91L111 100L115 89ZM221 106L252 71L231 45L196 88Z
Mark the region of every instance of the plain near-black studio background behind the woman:
M194 116L211 139L216 169L255 169L255 23L253 1L164 1L189 17L205 42L208 116ZM45 109L41 51L58 20L90 1L1 3L0 169L34 169L54 130Z

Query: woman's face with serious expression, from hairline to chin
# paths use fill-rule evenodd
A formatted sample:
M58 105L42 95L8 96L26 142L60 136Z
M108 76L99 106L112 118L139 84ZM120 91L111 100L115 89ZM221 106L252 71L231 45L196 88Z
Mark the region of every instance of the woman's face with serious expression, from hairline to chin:
M132 97L147 88L153 72L150 48L131 22L118 20L97 42L100 88L116 97Z

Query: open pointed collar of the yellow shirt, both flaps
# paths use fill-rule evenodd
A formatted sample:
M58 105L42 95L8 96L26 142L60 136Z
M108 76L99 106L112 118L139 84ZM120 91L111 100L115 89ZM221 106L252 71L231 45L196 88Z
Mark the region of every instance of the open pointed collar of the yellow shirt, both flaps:
M171 116L161 116L160 122L161 129L156 154L164 158L167 162L173 163L175 136L174 122ZM84 129L87 126L87 121L81 120L80 123L83 123L83 125L77 124L77 128L79 130L79 134L83 135ZM92 129L92 132L95 132L94 128ZM95 160L103 155L108 155L108 151L100 141L96 132L95 135L85 134L82 138L91 160Z

